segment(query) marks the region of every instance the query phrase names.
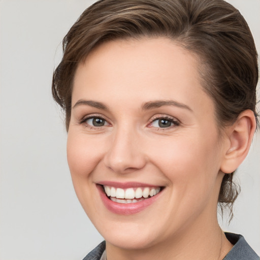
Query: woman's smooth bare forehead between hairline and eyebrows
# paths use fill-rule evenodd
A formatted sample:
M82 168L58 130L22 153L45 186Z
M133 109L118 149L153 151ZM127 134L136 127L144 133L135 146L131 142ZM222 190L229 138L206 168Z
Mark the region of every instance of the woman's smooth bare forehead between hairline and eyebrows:
M110 41L90 52L77 68L72 105L96 98L122 106L133 100L174 99L190 106L210 100L200 83L196 56L166 38ZM211 100L201 105L208 103L212 105Z

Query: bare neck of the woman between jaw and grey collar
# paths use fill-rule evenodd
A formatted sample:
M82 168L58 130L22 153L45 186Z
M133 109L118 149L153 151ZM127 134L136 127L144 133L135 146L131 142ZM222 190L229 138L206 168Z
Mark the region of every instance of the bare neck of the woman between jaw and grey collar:
M200 226L200 229L198 229ZM221 260L231 250L232 244L226 239L217 221L194 223L178 234L156 245L144 249L124 249L106 243L107 260Z

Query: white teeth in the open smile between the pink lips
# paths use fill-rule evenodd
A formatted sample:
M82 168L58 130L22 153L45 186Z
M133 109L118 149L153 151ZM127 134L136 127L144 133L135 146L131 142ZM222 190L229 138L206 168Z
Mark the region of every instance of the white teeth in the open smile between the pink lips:
M103 190L107 197L117 203L128 204L137 203L156 196L163 187L135 187L135 188L116 188L103 185Z

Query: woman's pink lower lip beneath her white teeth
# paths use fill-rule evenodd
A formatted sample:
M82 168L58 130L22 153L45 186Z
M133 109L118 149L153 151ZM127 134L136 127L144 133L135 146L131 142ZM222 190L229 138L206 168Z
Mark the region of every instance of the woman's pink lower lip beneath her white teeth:
M106 193L104 192L103 187L101 185L96 185L96 186L99 189L101 199L102 199L104 205L106 206L106 208L108 210L110 210L111 212L113 212L115 214L120 214L120 215L132 215L132 214L136 214L136 213L144 210L145 208L147 208L148 206L153 204L160 197L160 193L161 193L161 192L159 192L155 196L153 196L149 199L145 199L140 202L124 204L124 203L117 203L117 202L111 201L106 196Z

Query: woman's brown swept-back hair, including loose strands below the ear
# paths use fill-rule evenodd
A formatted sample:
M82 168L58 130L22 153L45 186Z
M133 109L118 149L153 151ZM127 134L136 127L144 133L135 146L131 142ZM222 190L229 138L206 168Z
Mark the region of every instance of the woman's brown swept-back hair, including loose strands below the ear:
M105 41L141 37L167 37L197 55L220 132L246 109L257 120L257 52L236 8L223 0L103 0L87 8L64 37L63 58L53 73L52 94L66 113L67 130L79 62ZM239 193L233 175L224 175L218 198L221 212L229 207L231 218Z

